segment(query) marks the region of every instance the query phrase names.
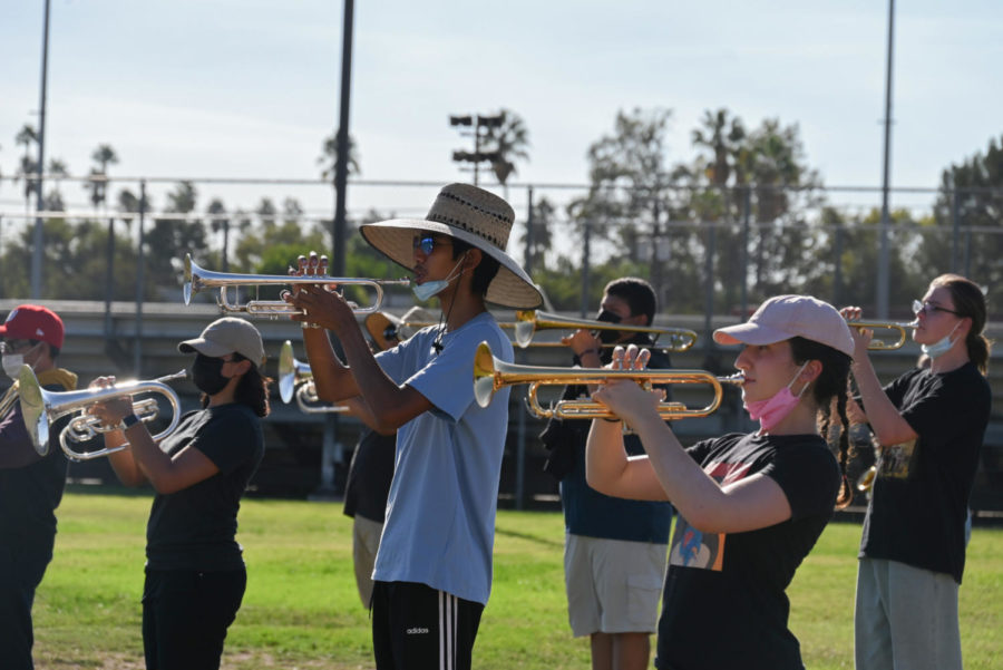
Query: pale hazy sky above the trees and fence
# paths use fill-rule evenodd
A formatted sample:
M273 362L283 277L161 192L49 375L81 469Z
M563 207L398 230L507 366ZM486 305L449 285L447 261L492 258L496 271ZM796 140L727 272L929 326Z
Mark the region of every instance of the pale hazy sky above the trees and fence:
M892 184L933 187L1003 135L1003 2L896 4ZM42 8L0 0L4 175L21 153L14 135L37 123ZM798 124L826 185L878 186L887 13L877 0L360 1L350 125L361 176L469 178L450 157L470 140L448 116L506 107L532 142L512 182L585 183L587 147L617 110L671 108L674 162L693 157L703 111L727 107L747 127ZM315 178L338 119L341 21L331 0L51 0L47 159L84 175L107 143L113 175ZM86 204L79 185L62 192ZM199 206L286 194L320 211L332 202L322 187L204 185ZM20 202L6 182L0 208ZM349 196L352 210L429 202Z

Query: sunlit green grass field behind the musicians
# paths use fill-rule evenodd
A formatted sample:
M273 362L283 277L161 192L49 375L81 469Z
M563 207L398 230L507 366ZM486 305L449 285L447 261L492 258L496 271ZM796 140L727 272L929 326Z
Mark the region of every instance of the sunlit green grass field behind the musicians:
M139 595L147 495L68 493L56 556L35 605L40 670L143 668ZM588 668L567 628L558 513L500 512L495 583L475 648L478 669ZM856 524L830 524L788 593L810 669L853 668ZM238 540L249 586L231 628L231 670L371 668L356 592L351 524L337 503L245 499ZM1003 659L1003 530L976 527L961 589L965 668Z

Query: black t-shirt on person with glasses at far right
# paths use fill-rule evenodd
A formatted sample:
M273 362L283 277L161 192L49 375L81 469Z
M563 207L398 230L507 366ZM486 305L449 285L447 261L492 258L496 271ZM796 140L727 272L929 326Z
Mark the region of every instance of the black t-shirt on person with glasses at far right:
M860 557L943 572L960 584L965 518L992 391L974 363L911 370L885 388L919 436L885 447L864 520Z

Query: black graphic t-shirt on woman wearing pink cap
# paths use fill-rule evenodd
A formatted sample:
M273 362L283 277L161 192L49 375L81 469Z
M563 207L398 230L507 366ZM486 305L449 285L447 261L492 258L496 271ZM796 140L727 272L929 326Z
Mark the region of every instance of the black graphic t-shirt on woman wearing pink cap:
M689 449L720 485L756 473L787 496L791 518L744 533L704 534L681 515L669 552L661 670L800 669L785 590L832 516L839 465L816 435L726 435Z

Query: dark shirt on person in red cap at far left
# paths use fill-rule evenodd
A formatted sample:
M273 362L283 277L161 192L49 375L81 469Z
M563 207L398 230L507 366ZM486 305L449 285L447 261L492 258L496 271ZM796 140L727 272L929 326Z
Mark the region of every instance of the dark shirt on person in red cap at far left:
M50 391L65 391L60 385L46 385ZM0 543L22 546L49 546L56 535L56 508L62 501L68 462L59 446L59 434L69 417L49 427L49 451L40 459L28 454L28 465L0 467ZM25 427L21 406L0 417L0 449L33 451ZM13 458L20 458L11 454Z

